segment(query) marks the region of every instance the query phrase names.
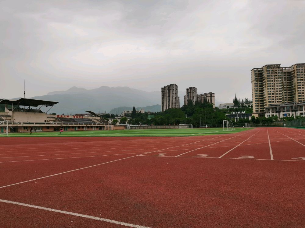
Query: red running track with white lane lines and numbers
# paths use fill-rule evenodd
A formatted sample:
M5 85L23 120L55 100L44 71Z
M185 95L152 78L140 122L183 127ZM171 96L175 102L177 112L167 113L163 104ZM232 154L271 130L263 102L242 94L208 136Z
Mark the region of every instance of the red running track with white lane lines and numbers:
M0 227L305 227L305 130L1 138Z

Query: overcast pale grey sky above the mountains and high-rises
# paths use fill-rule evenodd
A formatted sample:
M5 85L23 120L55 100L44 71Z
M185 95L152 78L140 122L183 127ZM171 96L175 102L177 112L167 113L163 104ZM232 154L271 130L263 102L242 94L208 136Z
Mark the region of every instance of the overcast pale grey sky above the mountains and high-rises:
M303 0L1 0L0 98L24 80L26 97L175 83L252 98L251 69L305 62L304 22Z

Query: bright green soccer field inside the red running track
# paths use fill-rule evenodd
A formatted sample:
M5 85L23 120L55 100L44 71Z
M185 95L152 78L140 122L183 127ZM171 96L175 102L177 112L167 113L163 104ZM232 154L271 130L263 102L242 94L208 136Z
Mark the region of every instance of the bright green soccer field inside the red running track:
M183 136L202 136L237 133L252 128L235 128L234 131L223 131L222 128L186 128L186 129L139 129L139 130L95 130L95 131L64 131L57 132L37 132L30 134L9 133L9 137L99 137L99 136L167 136L167 137L183 137ZM5 134L0 134L0 137Z

